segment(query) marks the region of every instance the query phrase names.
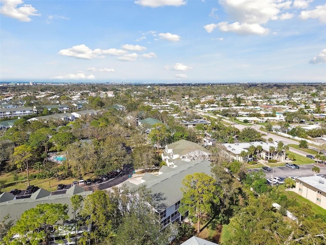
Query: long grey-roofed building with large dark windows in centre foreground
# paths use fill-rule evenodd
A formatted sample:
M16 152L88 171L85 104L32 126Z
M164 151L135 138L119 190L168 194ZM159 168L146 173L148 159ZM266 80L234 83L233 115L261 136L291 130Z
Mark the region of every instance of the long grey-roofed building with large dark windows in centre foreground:
M210 164L208 160L189 162L178 160L173 167L162 166L158 175L146 173L141 181L129 179L126 185L129 188L146 185L151 190L155 203L153 208L160 215L162 227L166 227L172 222L182 221L187 216L187 213L180 214L178 211L183 197L181 187L184 177L194 173L211 175Z

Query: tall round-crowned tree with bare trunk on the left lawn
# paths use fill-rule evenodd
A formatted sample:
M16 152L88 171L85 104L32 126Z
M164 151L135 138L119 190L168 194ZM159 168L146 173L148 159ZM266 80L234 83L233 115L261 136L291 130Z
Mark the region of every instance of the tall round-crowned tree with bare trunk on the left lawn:
M22 144L14 149L13 159L18 168L22 166L26 169L27 182L30 185L30 160L33 158L34 149L30 145Z

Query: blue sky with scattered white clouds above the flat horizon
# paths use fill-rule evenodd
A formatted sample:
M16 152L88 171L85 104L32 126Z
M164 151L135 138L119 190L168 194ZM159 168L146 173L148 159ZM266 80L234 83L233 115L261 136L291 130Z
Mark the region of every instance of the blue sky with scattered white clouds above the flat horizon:
M326 82L326 0L0 0L0 82Z

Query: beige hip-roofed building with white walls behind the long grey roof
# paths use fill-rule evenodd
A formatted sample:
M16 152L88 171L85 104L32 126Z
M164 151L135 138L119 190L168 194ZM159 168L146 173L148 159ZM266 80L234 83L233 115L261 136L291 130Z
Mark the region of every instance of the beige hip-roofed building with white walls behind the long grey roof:
M167 144L161 157L168 166L173 166L173 162L179 159L183 161L208 159L209 152L197 143L181 139L172 144Z

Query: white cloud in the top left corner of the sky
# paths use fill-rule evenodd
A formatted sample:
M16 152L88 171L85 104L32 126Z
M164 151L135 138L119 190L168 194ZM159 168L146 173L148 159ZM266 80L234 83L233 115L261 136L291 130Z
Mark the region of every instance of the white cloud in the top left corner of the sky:
M30 16L40 16L32 5L22 5L24 3L22 0L2 0L1 2L0 13L8 17L28 22L32 20ZM22 6L18 7L18 5Z

